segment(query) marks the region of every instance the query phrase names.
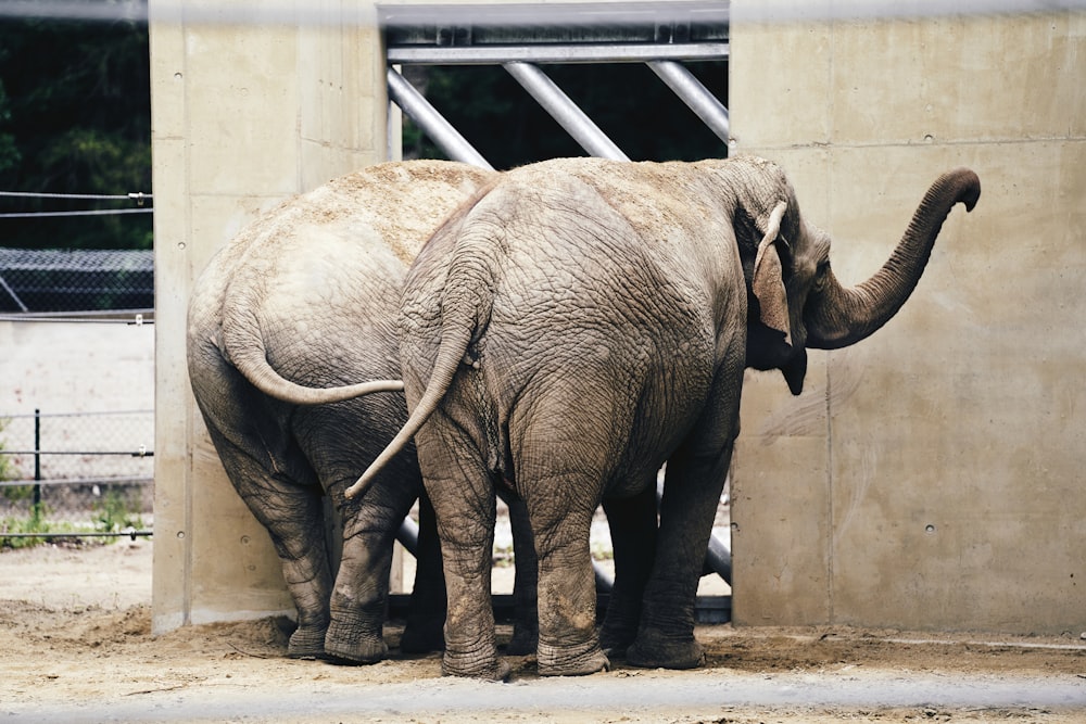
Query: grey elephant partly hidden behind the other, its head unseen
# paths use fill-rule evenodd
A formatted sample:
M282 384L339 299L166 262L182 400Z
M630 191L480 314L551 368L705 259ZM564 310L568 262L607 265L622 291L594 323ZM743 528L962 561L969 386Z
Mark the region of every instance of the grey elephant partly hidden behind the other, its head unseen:
M387 653L392 544L422 492L414 450L390 462L365 500L348 500L343 490L406 421L402 385L310 388L400 378L394 319L407 266L444 216L493 176L418 161L336 179L245 228L192 292L192 392L231 483L282 561L298 610L288 656L371 662ZM392 392L343 399L367 390ZM306 406L314 403L331 404ZM343 528L334 581L326 494ZM425 496L418 545L406 651L443 646L444 581Z

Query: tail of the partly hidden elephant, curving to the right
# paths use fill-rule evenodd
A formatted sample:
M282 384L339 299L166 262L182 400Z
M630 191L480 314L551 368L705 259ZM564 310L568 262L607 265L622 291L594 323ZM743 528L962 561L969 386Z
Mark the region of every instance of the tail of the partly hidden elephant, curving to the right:
M276 399L293 405L327 405L353 399L372 392L401 392L402 380L372 380L337 388L307 388L282 377L267 359L264 338L254 317L243 323L223 326L223 345L231 364L254 388Z

